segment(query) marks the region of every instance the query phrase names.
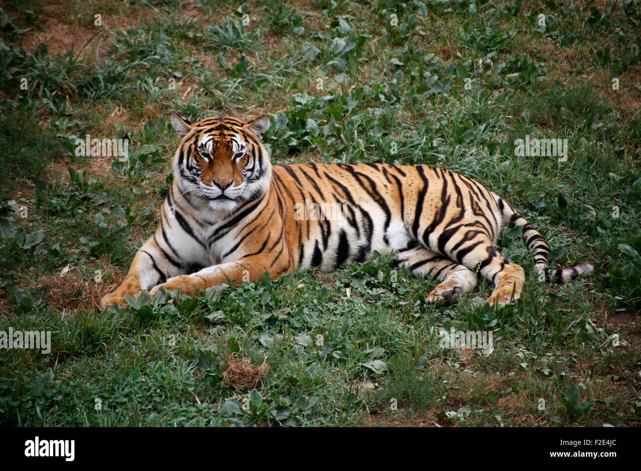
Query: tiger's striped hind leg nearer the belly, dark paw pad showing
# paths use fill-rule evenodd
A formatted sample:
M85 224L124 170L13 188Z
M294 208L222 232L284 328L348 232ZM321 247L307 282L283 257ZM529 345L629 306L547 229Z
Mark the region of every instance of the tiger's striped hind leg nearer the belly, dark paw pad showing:
M428 302L444 306L456 304L457 296L469 293L478 281L476 274L463 265L417 245L396 252L397 266L408 267L416 276L430 276L441 283L428 295Z

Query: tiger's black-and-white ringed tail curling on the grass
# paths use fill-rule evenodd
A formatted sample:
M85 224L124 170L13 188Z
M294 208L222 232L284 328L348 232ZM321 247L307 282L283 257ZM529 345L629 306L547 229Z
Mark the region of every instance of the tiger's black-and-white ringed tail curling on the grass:
M594 273L594 267L591 263L580 263L567 269L550 269L547 267L550 260L550 246L545 238L538 233L529 222L522 217L512 206L503 201L500 197L492 194L499 210L503 215L503 227L522 226L523 232L520 239L525 243L532 252L534 258L534 268L539 274L539 281L547 283L569 283L573 279L585 278Z

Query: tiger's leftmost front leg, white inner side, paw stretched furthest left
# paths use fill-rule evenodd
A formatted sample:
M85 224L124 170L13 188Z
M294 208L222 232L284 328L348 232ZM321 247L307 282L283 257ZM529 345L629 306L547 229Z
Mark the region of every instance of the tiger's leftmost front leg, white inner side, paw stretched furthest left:
M167 252L156 243L156 238L151 237L133 258L122 284L100 300L100 308L105 309L112 304L126 304L125 294L137 297L142 290L149 290L167 278L181 273L184 273L183 267L172 261Z

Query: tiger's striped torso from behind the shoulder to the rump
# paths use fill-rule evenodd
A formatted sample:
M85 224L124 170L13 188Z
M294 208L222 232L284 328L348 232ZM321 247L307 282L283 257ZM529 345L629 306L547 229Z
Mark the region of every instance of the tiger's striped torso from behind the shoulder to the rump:
M398 252L419 241L445 254L442 235L454 222L476 227L492 242L503 227L493 195L449 170L308 163L272 171L299 269L329 271L367 260L372 251Z

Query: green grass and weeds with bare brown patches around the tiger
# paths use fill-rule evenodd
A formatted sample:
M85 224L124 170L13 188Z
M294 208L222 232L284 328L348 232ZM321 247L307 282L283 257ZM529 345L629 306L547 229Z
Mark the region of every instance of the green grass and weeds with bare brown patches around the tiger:
M0 331L51 331L49 354L0 351L1 425L638 426L632 2L77 6L0 13ZM528 279L497 311L486 281L427 306L435 281L383 257L101 313L155 229L170 112L269 113L274 163L460 172L522 210L555 265L597 272L542 285L506 231L501 251ZM76 156L87 134L128 138L129 160ZM526 135L567 138L567 161L516 156ZM494 350L441 348L451 329L492 331ZM256 389L222 382L236 353L267 359Z

